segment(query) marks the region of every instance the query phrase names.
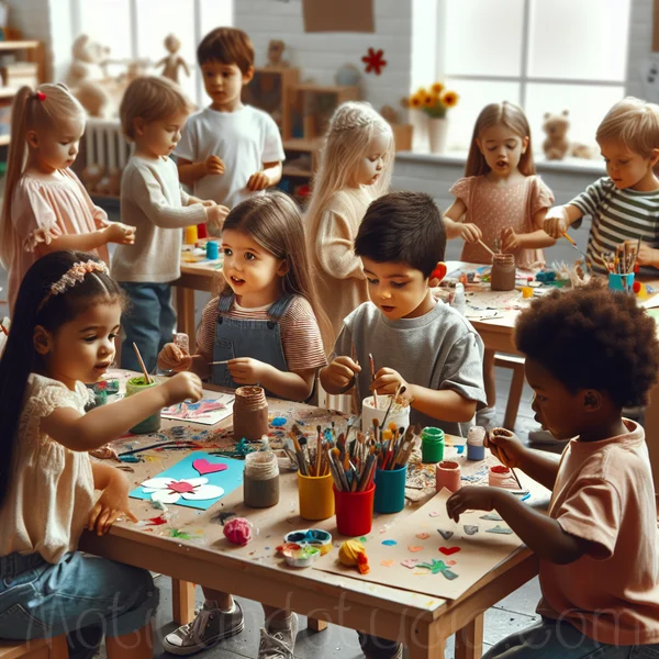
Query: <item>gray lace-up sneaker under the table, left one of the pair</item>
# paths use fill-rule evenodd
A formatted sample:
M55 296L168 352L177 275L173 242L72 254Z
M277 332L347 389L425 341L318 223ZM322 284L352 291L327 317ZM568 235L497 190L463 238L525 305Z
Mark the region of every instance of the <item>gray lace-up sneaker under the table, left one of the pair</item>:
M163 648L171 655L186 657L213 647L223 638L239 634L245 627L245 617L235 600L234 604L232 613L206 608L204 604L191 623L182 625L163 639Z

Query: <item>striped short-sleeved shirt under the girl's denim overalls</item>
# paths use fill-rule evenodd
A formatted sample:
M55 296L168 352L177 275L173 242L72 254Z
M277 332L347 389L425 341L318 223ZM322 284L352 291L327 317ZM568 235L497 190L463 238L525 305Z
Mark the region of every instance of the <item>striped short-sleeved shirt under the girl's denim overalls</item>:
M215 327L220 310L219 298L213 298L204 308L197 333L197 351L206 360L213 360ZM268 321L267 306L245 309L234 300L227 317L244 321ZM295 295L279 321L283 356L289 371L299 372L327 366L323 339L311 304L301 295Z

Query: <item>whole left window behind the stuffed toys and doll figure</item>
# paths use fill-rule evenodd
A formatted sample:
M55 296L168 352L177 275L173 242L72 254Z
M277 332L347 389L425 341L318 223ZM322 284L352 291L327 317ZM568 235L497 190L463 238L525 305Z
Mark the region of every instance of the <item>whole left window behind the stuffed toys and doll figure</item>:
M179 69L179 82L198 104L204 100L197 44L213 27L233 24L233 0L74 0L71 12L76 36L88 34L110 47L110 76L124 72L134 59L155 65L167 54L165 37L175 34L190 69L190 77Z

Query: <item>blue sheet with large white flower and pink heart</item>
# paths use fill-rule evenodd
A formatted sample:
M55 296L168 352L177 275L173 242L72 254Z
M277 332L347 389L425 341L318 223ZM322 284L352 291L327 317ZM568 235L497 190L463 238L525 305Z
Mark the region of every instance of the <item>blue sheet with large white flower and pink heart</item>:
M206 511L243 484L244 468L243 460L196 451L144 481L131 496Z

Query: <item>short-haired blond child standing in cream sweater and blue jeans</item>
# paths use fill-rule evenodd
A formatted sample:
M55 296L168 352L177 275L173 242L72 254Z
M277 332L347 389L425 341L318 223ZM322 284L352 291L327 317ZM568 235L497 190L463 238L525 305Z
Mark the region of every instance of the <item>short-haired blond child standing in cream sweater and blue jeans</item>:
M129 85L120 108L122 130L135 152L121 179L121 216L137 227L135 244L120 246L112 275L132 304L122 315L121 366L139 370L137 345L147 369L174 336L170 283L180 277L182 228L209 222L220 227L227 209L181 190L169 155L181 137L190 104L166 78L141 77Z

